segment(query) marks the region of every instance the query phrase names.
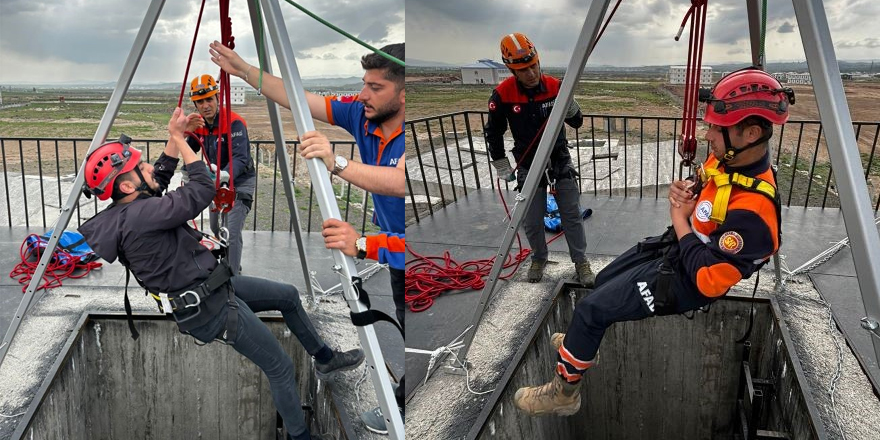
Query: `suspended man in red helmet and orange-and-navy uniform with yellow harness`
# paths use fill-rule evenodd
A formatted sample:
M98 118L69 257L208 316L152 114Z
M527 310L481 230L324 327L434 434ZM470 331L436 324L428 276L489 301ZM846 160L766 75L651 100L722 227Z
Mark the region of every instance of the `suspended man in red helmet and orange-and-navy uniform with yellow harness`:
M788 120L794 93L749 68L723 78L703 100L712 154L699 176L672 182L672 226L599 272L595 290L575 307L567 333L551 338L558 353L553 379L517 390L514 403L522 411L575 414L581 377L595 364L611 324L705 306L779 249L780 205L768 140L773 124Z

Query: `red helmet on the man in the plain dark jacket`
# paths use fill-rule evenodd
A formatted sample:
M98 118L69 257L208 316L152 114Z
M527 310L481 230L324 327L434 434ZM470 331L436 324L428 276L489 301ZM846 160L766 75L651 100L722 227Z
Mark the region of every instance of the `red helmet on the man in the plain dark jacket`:
M122 174L135 169L141 161L141 152L131 147L131 138L123 135L118 141L107 142L86 158L85 180L88 191L107 200L113 194L113 182Z

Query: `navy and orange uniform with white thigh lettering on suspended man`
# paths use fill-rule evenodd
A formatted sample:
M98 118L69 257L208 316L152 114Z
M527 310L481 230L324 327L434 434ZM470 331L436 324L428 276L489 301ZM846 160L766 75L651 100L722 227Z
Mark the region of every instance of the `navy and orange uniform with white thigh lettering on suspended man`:
M769 155L741 168L724 168L714 157L703 165L724 173L757 177L776 186ZM659 314L683 313L709 304L726 294L741 279L749 278L779 249L777 207L767 196L732 187L727 215L719 223L710 218L719 188L704 183L691 214L693 232L675 237L670 229L660 237L646 239L611 262L596 276L595 290L578 302L565 341L559 349L556 372L569 382L580 380L599 349L605 330L613 323ZM668 241L668 249L661 241ZM671 309L655 303L662 252L675 276L669 291Z

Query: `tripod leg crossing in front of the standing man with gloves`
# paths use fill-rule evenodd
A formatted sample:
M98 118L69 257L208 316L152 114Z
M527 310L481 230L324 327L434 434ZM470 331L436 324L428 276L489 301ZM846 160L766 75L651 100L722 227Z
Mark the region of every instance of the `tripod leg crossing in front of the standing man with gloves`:
M568 104L571 102L572 96L574 95L574 87L581 76L581 72L584 70L587 58L590 56L590 48L592 48L596 42L596 36L599 34L599 27L602 25L602 18L605 17L605 11L608 10L608 4L610 2L611 0L594 0L590 3L590 10L587 12L587 18L584 20L584 26L581 29L580 36L575 44L574 53L572 54L571 61L568 63L568 68L565 70L565 78L562 80L559 95L556 97L556 103L553 105L553 110L550 112L550 119L547 121L547 127L541 135L541 141L538 143L538 150L535 152L535 158L532 160L532 166L530 168L535 172L529 173L523 184L522 192L516 195L516 203L511 209L510 224L507 226L507 229L505 229L504 238L501 240L501 247L498 248L498 252L495 254L495 263L492 265L492 271L489 272L489 279L486 281L486 287L483 288L483 292L480 294L480 304L477 306L477 310L474 312L474 317L471 320L471 331L464 337L464 347L462 347L462 351L459 352L459 359L467 358L467 352L470 349L471 344L474 342L474 336L477 334L477 329L480 326L483 313L486 311L486 306L489 304L489 300L493 293L492 291L495 289L495 284L498 283L498 276L501 274L504 260L510 253L510 246L513 245L516 231L522 224L525 212L531 203L532 197L535 196L535 192L538 189L538 183L543 176L543 173L541 173L540 170L543 170L547 166L547 162L550 160L550 152L553 150L553 146L556 143L556 137L559 135L559 130L562 129L562 121L565 118Z

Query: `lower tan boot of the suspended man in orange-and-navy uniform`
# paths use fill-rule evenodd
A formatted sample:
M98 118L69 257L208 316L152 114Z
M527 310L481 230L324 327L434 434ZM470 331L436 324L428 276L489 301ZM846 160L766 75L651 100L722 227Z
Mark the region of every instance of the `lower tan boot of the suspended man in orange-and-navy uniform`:
M554 374L553 380L544 385L516 390L513 403L532 416L570 416L581 408L580 386L580 382L570 384Z

